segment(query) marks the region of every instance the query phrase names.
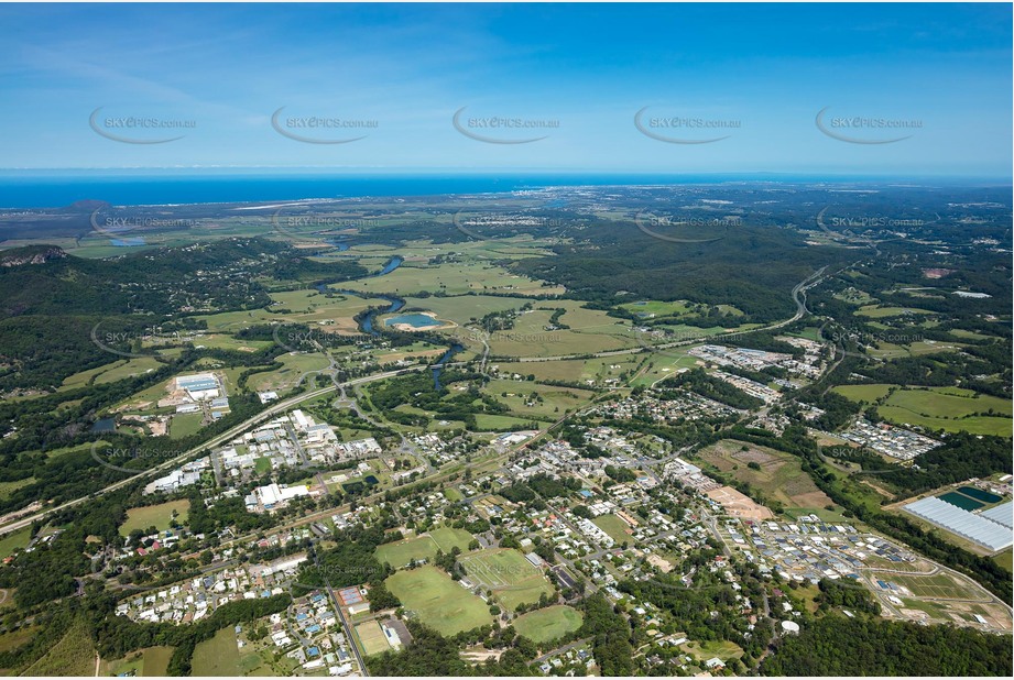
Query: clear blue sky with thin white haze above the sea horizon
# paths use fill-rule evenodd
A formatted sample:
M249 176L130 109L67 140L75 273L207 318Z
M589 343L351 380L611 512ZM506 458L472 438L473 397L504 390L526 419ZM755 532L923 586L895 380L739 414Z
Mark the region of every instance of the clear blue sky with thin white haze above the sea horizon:
M0 167L1011 175L1010 4L54 9L0 6ZM288 139L282 107L288 132L366 136ZM451 123L462 107L467 132L546 136L471 139ZM652 139L645 107L661 136L726 139ZM815 124L826 107L832 133L907 139L835 139ZM183 136L107 139L99 108L111 135ZM115 127L131 117L193 127ZM375 127L290 121L310 117ZM853 117L917 127L839 125ZM487 118L557 127L475 127Z

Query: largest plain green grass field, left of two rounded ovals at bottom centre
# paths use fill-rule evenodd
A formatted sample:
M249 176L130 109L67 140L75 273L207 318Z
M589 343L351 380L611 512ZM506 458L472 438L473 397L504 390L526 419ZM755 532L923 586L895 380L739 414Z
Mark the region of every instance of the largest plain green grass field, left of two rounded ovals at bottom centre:
M384 583L406 611L440 635L457 635L493 621L482 600L436 567L399 571Z

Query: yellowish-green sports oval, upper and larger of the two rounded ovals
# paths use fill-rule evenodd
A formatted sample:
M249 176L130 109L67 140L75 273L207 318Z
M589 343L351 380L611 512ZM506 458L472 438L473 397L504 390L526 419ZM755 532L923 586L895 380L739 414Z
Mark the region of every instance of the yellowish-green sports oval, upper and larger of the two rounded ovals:
M497 601L512 612L519 604L538 602L543 593L554 591L542 570L512 548L471 552L460 562L470 579L493 591Z

